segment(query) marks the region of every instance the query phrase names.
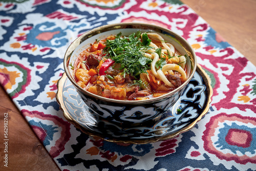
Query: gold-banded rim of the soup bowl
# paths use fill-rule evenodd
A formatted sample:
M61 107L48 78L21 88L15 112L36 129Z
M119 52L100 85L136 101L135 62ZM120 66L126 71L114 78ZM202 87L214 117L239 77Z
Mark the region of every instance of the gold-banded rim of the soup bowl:
M95 95L93 93L90 93L90 92L82 89L80 86L78 86L76 81L72 78L70 70L69 70L69 67L70 67L69 59L70 59L72 53L74 52L74 50L76 49L76 47L78 45L80 45L81 42L85 41L87 38L92 37L94 35L103 33L105 31L113 30L113 29L125 29L125 28L144 29L144 30L148 30L148 31L154 31L154 32L162 33L162 34L165 33L165 34L170 34L170 35L175 36L174 40L177 41L178 44L180 44L182 46L182 48L186 51L187 55L189 56L190 62L191 62L191 71L190 71L191 74L189 75L187 80L180 87L178 87L177 89L175 89L172 92L169 92L169 93L159 96L159 97L150 98L150 99L146 99L146 100L139 100L139 101L116 100L116 99L105 98L105 97L101 97L101 96ZM69 52L71 52L71 53L69 53ZM195 53L194 49L188 44L188 42L182 36L180 36L179 34L173 32L169 29L166 29L166 28L163 28L160 26L156 26L156 25L145 24L145 23L118 23L118 24L110 24L110 25L104 25L104 26L94 28L94 29L80 35L78 38L76 38L72 42L72 44L69 46L69 48L67 49L67 51L65 53L63 65L64 65L65 73L67 74L69 80L76 87L76 89L78 89L83 94L86 94L95 99L99 99L99 100L111 102L111 103L118 103L118 104L123 104L123 105L140 105L140 104L146 104L146 103L152 103L152 102L155 103L157 101L162 101L165 98L173 96L178 91L183 89L188 84L188 82L191 80L191 78L193 78L193 76L196 72L197 57L196 57L196 53Z

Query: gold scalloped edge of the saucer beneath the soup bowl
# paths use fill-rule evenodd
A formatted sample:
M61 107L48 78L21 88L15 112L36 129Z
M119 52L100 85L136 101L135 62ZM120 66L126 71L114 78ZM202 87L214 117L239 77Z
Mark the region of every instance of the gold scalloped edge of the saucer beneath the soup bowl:
M202 117L209 111L209 106L210 106L210 102L211 102L211 97L213 94L212 91L212 87L210 85L211 81L209 76L207 75L207 73L202 69L202 67L198 64L197 65L197 71L198 73L202 76L203 80L205 81L205 86L207 88L207 92L208 92L208 98L206 99L206 104L205 104L205 109L202 111L201 115L198 116L198 118L190 123L189 125L187 125L186 127L184 127L183 129L181 129L180 131L167 135L167 136L162 136L162 137L158 137L156 139L150 139L150 140L113 140L113 139L106 139L104 138L102 135L99 134L94 134L92 132L87 131L86 129L84 129L84 127L79 124L68 112L68 110L65 108L65 104L62 100L63 94L62 94L62 87L60 87L59 85L63 84L66 81L66 77L67 75L64 73L62 75L62 77L58 80L57 82L57 94L56 94L56 99L57 102L60 105L60 110L63 112L63 116L67 119L68 122L70 122L71 124L73 124L77 129L79 129L80 131L82 131L83 133L92 136L92 137L100 137L101 139L105 140L105 141L109 141L109 142L115 142L115 143L127 143L127 144L147 144L147 143L154 143L154 142L158 142L158 141L162 141L162 140L168 140L168 139L172 139L177 137L178 135L180 135L181 133L187 132L191 129L193 129L193 127L196 125L196 123L198 121L200 121L202 119Z

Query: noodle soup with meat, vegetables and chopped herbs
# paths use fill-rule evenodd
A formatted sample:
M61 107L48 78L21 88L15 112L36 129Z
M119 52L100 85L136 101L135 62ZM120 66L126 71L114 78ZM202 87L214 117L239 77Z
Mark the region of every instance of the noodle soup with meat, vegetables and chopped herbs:
M84 49L72 66L77 84L118 100L169 93L186 80L186 57L157 33L109 35Z

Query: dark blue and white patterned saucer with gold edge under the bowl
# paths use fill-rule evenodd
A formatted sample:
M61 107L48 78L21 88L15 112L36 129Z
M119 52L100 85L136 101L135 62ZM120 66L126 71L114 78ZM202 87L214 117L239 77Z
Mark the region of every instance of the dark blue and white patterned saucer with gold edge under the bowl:
M57 102L65 118L82 132L110 142L145 144L174 138L192 129L208 112L212 96L210 79L201 66L182 96L164 115L136 126L121 127L98 118L83 102L64 73L59 79ZM177 112L180 109L181 112Z

